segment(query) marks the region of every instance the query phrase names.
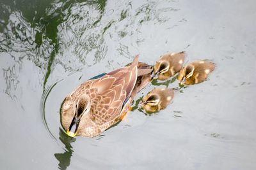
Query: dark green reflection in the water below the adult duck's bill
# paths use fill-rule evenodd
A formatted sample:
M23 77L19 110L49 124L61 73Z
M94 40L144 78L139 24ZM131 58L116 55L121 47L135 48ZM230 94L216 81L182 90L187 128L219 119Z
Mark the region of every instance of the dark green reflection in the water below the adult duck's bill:
M74 152L72 150L71 143L76 141L75 138L71 138L70 136L67 136L67 134L60 128L59 132L59 139L60 141L65 145L65 152L64 153L55 153L54 157L60 162L58 164L59 169L67 169L67 167L70 165L70 160L72 157L72 153Z

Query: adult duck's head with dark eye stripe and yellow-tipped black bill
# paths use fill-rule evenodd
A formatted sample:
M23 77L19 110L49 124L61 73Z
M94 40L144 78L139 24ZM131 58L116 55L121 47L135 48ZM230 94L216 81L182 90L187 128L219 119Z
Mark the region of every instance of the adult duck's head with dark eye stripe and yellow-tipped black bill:
M67 130L68 136L71 136L71 137L76 136L77 129L79 127L79 122L81 121L83 116L90 111L90 108L91 108L90 97L87 96L86 94L83 94L77 100L76 107L74 110L74 117Z

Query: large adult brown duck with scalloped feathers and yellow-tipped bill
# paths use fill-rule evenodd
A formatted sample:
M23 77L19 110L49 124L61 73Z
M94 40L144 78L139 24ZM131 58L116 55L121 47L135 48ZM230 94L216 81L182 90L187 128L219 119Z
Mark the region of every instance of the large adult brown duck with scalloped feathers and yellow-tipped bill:
M120 122L136 93L150 83L153 69L139 66L136 55L129 66L90 78L68 94L61 106L61 125L68 136L93 138Z

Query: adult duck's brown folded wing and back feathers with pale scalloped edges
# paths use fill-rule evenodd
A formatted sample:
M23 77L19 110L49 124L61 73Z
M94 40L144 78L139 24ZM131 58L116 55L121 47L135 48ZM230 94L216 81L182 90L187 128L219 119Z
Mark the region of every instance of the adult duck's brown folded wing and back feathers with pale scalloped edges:
M87 94L91 99L90 118L95 124L103 125L120 117L137 80L137 64L138 57L135 57L130 67L112 71L90 83Z

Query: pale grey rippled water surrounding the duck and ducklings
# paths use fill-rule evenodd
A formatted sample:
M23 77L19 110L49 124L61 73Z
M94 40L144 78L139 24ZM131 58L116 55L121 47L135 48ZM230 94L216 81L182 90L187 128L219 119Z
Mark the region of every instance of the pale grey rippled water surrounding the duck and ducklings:
M1 169L256 169L255 1L0 0ZM165 52L217 64L166 110L136 109L96 138L69 138L67 94ZM154 81L179 87L177 81Z

